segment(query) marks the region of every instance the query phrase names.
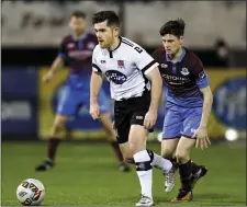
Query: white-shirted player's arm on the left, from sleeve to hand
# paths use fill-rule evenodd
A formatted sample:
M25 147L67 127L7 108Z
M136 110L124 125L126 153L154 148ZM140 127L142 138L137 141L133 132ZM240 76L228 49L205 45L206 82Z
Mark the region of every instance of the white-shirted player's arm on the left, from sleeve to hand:
M98 119L100 118L100 106L98 104L98 96L103 83L103 77L100 68L97 66L94 50L92 54L92 76L90 81L90 114L93 119Z

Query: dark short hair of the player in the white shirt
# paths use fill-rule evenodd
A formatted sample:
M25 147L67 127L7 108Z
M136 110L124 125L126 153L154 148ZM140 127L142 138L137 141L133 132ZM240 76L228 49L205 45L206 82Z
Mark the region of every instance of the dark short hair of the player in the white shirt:
M120 19L114 11L101 11L93 15L92 24L108 21L108 26L120 25Z

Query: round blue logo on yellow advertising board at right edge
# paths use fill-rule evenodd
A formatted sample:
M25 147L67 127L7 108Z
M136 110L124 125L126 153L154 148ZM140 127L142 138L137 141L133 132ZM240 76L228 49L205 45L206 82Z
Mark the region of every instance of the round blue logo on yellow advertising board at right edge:
M227 127L246 129L246 77L229 79L214 92L213 111Z

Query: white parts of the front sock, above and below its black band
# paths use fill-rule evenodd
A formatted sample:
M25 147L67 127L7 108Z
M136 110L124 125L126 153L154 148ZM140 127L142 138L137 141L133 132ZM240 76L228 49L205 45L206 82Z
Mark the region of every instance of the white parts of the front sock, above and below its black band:
M147 150L139 151L134 154L135 162L148 162L150 161L150 157L147 153ZM151 185L153 185L153 170L147 171L136 171L138 177L139 177L139 184L142 188L142 195L150 197L153 199L151 195Z

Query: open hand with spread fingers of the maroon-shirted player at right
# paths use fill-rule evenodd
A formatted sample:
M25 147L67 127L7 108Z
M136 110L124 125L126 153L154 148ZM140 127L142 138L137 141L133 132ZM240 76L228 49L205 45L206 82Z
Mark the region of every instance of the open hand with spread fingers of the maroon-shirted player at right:
M192 138L197 138L195 140L195 148L198 148L199 146L201 147L201 149L206 149L209 145L211 145L210 138L207 136L207 130L206 127L199 127Z

